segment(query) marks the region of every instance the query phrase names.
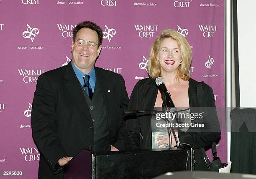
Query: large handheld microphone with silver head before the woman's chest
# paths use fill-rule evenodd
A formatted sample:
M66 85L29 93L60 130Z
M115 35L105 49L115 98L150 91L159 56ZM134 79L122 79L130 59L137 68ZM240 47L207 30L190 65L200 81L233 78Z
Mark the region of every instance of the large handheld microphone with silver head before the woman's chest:
M166 104L166 107L175 107L174 103L172 102L171 94L167 90L165 84L164 84L164 78L158 77L156 78L156 85L161 91L161 95L164 99L164 103Z

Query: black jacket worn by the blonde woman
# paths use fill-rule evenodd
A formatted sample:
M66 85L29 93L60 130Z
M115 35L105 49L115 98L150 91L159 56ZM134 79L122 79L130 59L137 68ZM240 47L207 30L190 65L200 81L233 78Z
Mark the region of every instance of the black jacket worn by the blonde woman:
M190 113L200 113L202 108L197 100L197 81L189 79L189 107ZM215 108L215 99L212 88L203 83L203 91L205 96L205 105L210 108L204 108L204 116L200 124L204 124L204 128L189 128L187 132L178 131L179 141L191 144L195 147L195 169L207 170L202 157L201 147L211 144L220 137L220 124ZM133 89L130 97L128 110L152 111L156 102L158 87L154 78L146 78L138 81ZM186 106L184 106L186 107ZM192 132L194 130L194 132ZM141 135L141 136L140 136ZM151 131L151 115L133 116L126 120L125 126L125 146L127 149L151 149L152 148L152 131Z

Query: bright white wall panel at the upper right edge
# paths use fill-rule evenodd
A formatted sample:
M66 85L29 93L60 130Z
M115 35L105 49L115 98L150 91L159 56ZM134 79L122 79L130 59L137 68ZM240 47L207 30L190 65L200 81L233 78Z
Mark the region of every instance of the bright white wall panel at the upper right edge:
M237 0L241 107L256 107L256 0Z

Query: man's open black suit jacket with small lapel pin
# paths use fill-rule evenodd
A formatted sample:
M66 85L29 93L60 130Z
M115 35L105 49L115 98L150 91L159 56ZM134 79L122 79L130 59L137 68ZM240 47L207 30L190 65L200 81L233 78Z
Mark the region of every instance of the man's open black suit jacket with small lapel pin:
M95 67L95 73L107 109L110 144L124 150L123 110L129 100L125 81L102 68ZM32 106L33 139L41 153L38 178L63 178L58 160L92 149L94 141L92 118L71 63L39 76Z

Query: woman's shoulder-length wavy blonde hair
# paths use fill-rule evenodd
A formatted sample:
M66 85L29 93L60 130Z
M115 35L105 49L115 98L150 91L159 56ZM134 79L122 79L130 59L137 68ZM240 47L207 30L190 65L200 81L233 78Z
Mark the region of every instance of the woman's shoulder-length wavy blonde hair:
M182 64L178 67L175 79L179 80L179 78L182 78L182 80L187 81L190 77L189 67L192 60L191 47L181 34L172 29L163 30L152 44L147 66L149 76L151 78L161 76L161 66L159 61L157 61L157 55L159 53L160 44L165 38L172 38L177 42L182 57Z

